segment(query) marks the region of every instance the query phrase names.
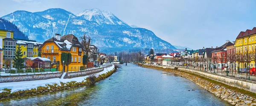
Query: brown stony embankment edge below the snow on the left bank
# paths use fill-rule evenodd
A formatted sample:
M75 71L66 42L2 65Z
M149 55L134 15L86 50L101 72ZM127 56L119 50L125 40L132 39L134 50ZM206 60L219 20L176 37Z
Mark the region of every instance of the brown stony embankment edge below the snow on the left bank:
M12 89L2 89L0 90L0 100L7 99L7 98L17 98L17 97L25 97L25 96L33 96L33 95L41 95L48 92L56 92L61 90L67 90L72 89L80 86L87 86L90 84L94 84L98 81L101 81L105 78L108 78L110 75L116 72L116 65L113 68L113 70L109 70L107 73L103 73L101 75L98 75L98 77L92 75L89 75L84 81L76 82L76 81L70 81L67 83L62 83L60 85L58 84L47 84L46 86L38 86L35 89L26 89L26 90L20 90L17 92L11 92ZM20 82L22 83L22 82ZM1 92L2 91L2 92ZM4 91L4 92L3 92Z

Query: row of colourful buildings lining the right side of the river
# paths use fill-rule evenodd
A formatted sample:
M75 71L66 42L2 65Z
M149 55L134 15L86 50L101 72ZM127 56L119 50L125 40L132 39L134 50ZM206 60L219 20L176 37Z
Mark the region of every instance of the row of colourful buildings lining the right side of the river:
M236 41L221 41L223 45L183 50L178 53L150 53L144 55L145 64L196 67L200 70L240 70L255 68L256 27L241 31Z

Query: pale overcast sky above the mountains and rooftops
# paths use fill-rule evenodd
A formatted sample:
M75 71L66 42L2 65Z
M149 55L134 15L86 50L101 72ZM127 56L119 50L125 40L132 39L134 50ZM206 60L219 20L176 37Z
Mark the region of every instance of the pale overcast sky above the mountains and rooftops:
M193 49L235 41L240 31L256 27L256 0L1 0L0 17L17 10L63 8L111 11L128 23L153 31L172 45Z

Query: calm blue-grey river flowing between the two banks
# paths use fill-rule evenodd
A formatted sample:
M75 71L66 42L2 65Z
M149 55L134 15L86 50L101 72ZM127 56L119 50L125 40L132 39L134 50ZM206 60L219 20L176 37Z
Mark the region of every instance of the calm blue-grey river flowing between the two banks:
M0 101L1 106L227 106L200 86L178 75L120 65L94 86ZM192 91L195 89L195 91ZM190 90L190 91L188 91Z

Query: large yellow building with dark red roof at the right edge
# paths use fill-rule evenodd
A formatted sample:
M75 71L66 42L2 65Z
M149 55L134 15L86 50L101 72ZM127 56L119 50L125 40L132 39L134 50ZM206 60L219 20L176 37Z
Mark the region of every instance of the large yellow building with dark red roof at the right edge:
M236 53L245 53L245 52L252 52L256 48L256 27L252 30L246 30L245 32L241 31L239 35L236 37L236 42L234 44L236 49ZM236 68L246 68L250 66L250 68L255 67L255 62L251 61L250 64L247 63L236 63Z

